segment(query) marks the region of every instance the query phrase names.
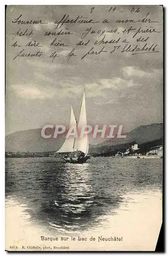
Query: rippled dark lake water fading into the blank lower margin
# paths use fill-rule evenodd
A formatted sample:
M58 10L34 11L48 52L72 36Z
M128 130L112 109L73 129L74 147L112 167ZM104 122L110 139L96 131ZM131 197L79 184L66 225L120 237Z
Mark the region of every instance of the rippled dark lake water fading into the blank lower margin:
M8 206L9 199L25 205L31 222L51 234L95 230L106 216L115 218L125 195L161 189L162 159L6 159Z

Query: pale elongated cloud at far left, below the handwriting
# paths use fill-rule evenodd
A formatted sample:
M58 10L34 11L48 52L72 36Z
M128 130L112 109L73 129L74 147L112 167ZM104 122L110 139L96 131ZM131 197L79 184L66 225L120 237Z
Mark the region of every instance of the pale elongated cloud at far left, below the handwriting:
M54 96L51 91L44 88L39 89L32 84L14 84L11 88L19 97L26 99L46 99Z

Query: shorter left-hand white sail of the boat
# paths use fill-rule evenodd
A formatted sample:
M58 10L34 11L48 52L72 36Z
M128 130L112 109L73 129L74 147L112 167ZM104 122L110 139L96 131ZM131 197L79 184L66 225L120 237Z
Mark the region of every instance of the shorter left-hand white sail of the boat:
M76 125L77 125L77 122L76 122L76 118L74 115L74 110L71 106L69 127L76 126ZM68 138L66 138L62 147L59 149L59 151L57 151L57 153L65 153L65 152L74 151L74 141L75 141L74 136L69 136Z

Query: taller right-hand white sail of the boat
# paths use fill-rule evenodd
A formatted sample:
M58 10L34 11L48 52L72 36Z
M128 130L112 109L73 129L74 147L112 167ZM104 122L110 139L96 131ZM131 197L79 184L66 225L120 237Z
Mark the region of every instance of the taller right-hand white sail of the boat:
M82 151L86 156L89 150L88 135L85 134L83 138L80 138L82 125L87 125L85 92L83 93L83 99L82 99L81 110L80 110L78 126L77 126L78 138L75 139L74 148L75 150Z

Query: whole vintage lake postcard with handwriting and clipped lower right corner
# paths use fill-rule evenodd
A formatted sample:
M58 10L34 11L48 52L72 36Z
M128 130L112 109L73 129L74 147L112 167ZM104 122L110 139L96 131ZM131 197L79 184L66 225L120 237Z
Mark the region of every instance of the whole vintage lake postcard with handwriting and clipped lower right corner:
M163 6L7 6L5 162L7 251L155 251Z

